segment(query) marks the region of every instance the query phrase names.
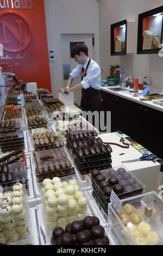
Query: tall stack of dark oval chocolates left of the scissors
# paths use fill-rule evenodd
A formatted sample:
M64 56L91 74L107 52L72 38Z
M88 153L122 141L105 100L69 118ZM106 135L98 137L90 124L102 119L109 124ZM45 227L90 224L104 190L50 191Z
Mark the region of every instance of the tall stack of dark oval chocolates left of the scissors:
M73 141L69 147L76 155L75 162L82 174L91 173L93 169L111 168L110 153L112 149L110 145L104 145L101 138L88 137L80 141Z

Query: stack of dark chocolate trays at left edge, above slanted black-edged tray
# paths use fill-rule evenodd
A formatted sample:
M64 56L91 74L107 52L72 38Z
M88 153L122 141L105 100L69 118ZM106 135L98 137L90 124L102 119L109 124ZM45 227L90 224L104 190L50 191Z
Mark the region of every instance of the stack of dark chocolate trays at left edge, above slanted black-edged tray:
M0 135L0 147L3 153L24 148L23 131L2 133Z

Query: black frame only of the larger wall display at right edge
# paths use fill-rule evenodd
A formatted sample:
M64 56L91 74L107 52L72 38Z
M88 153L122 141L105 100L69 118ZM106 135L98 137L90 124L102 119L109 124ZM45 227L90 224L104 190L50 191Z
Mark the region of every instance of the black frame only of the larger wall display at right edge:
M146 17L152 16L154 14L162 13L162 12L163 12L163 5L158 7L158 8L146 11L145 13L139 14L138 29L137 29L137 54L156 54L156 53L159 53L161 48L142 50L143 19L145 19ZM163 19L162 19L162 28L161 28L161 44L162 44L162 32L163 32Z

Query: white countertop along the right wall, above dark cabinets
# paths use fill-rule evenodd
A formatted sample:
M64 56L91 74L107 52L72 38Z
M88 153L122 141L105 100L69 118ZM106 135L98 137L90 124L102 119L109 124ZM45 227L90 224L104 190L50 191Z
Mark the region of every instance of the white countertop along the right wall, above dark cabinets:
M114 92L114 91L110 90L110 88L115 88L115 87L119 87L119 86L101 87L101 90L103 90L106 93L111 93L113 95L123 97L124 99L131 100L131 101L134 101L141 105L144 105L146 107L151 107L153 109L163 112L163 106L156 105L155 103L153 103L153 100L152 101L141 101L140 99L145 99L145 97L143 97L143 95L133 97L134 93L133 93L133 95L131 95L131 94L129 94L129 92ZM139 93L142 93L142 90L139 90ZM154 100L154 101L157 101L157 100Z

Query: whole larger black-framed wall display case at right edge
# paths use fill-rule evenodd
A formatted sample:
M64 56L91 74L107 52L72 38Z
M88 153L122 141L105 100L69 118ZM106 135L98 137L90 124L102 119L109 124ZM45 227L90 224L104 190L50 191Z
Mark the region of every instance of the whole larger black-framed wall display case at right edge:
M137 54L158 53L162 44L163 5L139 14Z

